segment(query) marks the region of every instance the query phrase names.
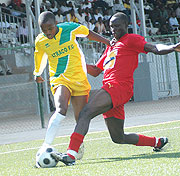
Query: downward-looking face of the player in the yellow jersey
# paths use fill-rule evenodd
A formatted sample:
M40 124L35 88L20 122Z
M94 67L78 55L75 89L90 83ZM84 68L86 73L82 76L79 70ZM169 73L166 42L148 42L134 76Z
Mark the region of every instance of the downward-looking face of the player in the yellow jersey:
M42 32L46 35L48 39L52 39L56 35L58 30L56 24L52 22L41 24L40 27Z

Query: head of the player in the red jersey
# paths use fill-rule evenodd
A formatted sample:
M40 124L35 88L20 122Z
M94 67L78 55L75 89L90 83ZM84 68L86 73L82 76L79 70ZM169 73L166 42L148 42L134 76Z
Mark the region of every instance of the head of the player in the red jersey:
M122 12L114 14L110 19L110 29L116 40L119 40L128 31L128 17Z

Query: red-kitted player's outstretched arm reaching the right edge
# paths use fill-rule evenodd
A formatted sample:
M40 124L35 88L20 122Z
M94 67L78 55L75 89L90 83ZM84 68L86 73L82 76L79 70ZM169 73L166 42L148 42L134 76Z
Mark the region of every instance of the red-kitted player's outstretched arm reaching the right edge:
M164 45L164 44L151 44L146 43L144 46L146 52L152 52L158 55L164 55L171 53L173 51L180 52L180 43L174 45Z

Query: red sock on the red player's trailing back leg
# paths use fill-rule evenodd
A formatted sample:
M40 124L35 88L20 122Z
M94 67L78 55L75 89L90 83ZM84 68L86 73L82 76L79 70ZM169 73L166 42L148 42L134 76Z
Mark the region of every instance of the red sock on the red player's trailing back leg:
M156 145L156 138L155 137L148 137L139 134L139 141L136 146L151 146L154 147Z

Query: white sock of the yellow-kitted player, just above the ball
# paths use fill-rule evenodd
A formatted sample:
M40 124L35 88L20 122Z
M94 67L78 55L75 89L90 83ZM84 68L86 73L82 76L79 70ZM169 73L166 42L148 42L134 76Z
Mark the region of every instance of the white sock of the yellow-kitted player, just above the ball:
M60 126L60 122L65 118L66 116L58 113L58 112L55 112L50 120L49 120L49 124L48 124L48 128L47 128L47 131L46 131L46 136L45 136L45 140L44 140L44 144L48 144L48 145L51 145L55 136L56 136L56 133L58 132L59 130L59 126Z

